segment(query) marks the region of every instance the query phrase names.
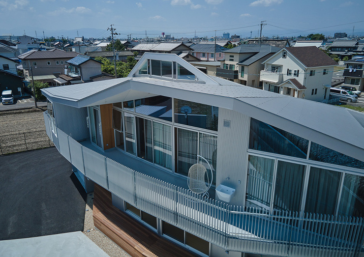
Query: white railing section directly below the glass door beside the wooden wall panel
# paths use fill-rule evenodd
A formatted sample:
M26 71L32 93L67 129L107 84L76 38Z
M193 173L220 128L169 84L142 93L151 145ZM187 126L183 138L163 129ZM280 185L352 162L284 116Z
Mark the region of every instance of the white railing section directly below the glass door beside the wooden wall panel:
M103 188L109 189L105 156L102 156L87 147L82 147L82 151L84 156L85 175Z

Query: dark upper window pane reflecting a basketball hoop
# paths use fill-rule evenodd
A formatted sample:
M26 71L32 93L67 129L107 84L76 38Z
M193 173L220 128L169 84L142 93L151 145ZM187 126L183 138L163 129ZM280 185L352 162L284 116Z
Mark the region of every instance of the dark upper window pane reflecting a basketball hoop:
M218 107L175 98L175 122L217 131Z

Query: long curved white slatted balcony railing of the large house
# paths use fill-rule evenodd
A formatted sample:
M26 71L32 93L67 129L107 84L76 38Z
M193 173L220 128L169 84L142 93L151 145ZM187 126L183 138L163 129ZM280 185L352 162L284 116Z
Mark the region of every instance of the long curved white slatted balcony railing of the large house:
M135 207L227 251L284 257L354 257L362 251L363 218L229 205L134 171L57 129L46 131L85 176Z

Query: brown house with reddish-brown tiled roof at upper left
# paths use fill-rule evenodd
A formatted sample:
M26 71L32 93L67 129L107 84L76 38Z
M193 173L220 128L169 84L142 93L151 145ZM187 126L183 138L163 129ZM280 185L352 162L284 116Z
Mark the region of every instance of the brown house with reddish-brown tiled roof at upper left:
M59 77L64 74L66 61L76 57L76 52L66 52L60 49L48 51L31 50L19 56L23 64L24 76L30 77L30 66L33 76L54 75Z

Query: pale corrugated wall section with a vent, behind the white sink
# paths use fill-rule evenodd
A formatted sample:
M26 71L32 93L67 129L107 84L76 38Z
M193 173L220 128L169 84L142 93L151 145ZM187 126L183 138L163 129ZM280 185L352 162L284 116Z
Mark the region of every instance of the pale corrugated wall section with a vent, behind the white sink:
M230 121L230 128L224 126L224 120ZM216 186L224 184L236 189L231 204L244 204L248 138L249 117L219 108Z

